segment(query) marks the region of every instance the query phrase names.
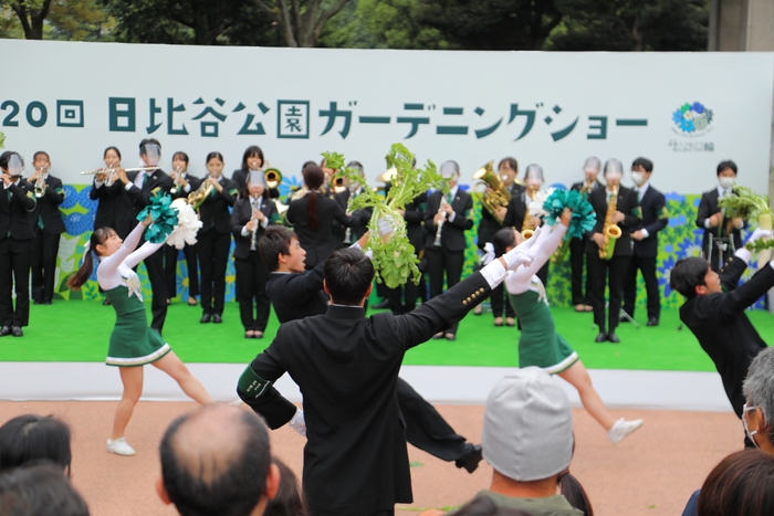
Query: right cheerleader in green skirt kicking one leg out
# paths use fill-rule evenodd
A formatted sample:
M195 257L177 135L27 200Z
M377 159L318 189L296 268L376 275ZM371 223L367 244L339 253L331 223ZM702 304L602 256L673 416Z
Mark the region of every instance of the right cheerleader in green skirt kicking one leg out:
M545 286L535 275L562 244L573 212L565 208L556 223L544 228L537 235L532 264L509 274L505 287L522 331L519 338L519 366L537 366L557 375L577 389L584 408L607 430L615 444L642 425L642 420L616 420L592 386L592 378L567 341L556 333L554 317L548 308ZM492 239L494 251L502 255L523 241L512 228L498 231Z

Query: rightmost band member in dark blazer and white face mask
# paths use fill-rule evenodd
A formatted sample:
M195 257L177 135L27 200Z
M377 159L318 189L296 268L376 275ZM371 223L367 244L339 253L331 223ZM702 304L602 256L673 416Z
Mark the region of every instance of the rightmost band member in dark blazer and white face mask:
M733 251L742 245L745 222L725 217L718 206L720 198L734 194L732 189L735 181L736 164L721 161L718 165L718 187L702 193L699 202L697 227L704 230L701 249L713 271L718 271L733 255Z

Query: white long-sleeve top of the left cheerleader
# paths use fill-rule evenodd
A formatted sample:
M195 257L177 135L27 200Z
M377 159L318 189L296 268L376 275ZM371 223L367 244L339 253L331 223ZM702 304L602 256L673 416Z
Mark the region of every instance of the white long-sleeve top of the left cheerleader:
M129 295L135 294L139 301L143 301L139 277L132 268L164 245L164 242L158 244L145 242L135 251L144 231L145 225L137 224L115 253L100 260L97 281L103 291L124 285L129 289Z

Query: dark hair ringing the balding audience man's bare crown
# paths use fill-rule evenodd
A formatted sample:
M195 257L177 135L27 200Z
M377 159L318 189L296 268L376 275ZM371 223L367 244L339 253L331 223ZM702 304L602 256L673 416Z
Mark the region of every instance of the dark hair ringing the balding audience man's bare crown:
M207 410L179 417L165 432L159 444L164 487L182 516L248 516L266 485L271 464L269 431L253 412L239 411L229 421L231 428L236 425L240 431L238 442L230 443L231 449L223 451L218 464L196 467L200 457L189 444L178 442L178 432L192 418L208 418Z

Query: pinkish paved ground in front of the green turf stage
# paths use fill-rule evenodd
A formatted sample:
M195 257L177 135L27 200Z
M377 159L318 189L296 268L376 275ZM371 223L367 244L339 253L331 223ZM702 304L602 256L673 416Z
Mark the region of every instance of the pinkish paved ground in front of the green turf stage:
M0 401L0 423L28 412L54 414L73 429L73 482L95 516L171 516L156 497L159 475L157 446L167 424L195 408L185 402L140 402L127 440L135 457L105 452L113 401ZM472 441L481 435L483 407L439 406L454 429ZM602 428L584 411L574 410L577 439L571 471L585 485L595 514L627 516L679 515L691 492L723 456L742 445L741 422L731 413L617 410L617 415L642 417L637 433L613 446ZM272 433L275 454L301 471L303 439L284 428ZM470 475L409 446L414 498L396 514L459 505L489 485L492 470L482 463ZM420 465L421 464L421 465Z

